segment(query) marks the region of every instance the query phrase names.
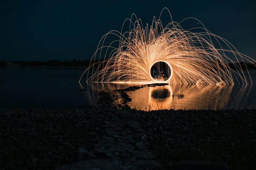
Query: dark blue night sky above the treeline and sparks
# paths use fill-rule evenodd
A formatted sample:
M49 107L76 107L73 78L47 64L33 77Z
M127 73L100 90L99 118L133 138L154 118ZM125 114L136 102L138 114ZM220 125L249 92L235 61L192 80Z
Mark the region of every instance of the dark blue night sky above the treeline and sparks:
M101 37L121 31L132 13L145 26L153 16L159 18L164 7L174 21L197 18L240 53L256 59L255 0L6 0L0 9L0 60L91 59ZM161 20L170 21L166 11Z

